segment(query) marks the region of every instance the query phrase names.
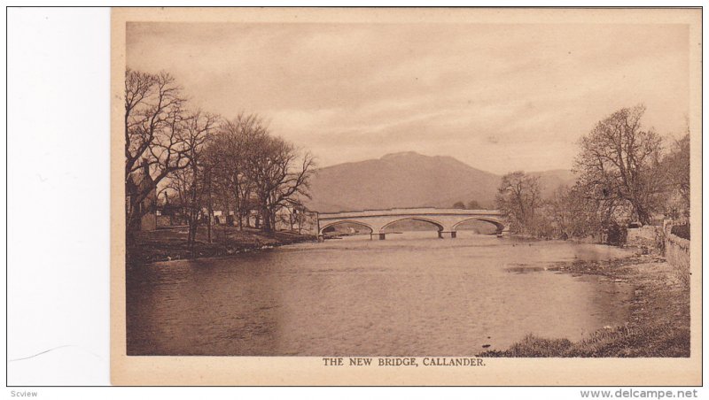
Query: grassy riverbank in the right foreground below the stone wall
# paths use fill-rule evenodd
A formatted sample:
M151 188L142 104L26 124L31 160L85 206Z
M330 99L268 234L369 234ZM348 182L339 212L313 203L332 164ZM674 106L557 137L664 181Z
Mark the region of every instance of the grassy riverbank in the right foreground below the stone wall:
M481 357L689 357L690 289L664 258L653 255L559 265L565 273L603 275L635 287L630 317L580 342L527 335Z

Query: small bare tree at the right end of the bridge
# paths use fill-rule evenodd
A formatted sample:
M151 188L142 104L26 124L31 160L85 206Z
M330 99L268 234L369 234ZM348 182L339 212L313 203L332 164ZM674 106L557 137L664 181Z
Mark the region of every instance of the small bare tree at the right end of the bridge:
M534 233L535 212L541 206L539 178L521 171L504 175L495 204L510 220L512 231Z

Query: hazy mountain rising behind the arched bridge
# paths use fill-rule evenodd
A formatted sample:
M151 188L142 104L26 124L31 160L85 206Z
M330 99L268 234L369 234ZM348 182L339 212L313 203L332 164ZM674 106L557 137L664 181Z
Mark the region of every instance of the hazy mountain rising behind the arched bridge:
M573 175L569 171L533 173L543 194L550 194ZM316 171L310 182L318 212L376 210L396 207L450 208L471 200L493 207L500 175L466 165L452 157L429 157L413 151L379 159L331 165Z

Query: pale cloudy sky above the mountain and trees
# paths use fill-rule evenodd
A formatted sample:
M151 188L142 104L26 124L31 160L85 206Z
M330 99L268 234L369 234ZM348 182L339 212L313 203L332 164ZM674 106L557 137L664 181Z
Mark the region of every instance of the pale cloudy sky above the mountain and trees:
M191 105L255 112L319 166L401 151L492 173L570 169L622 107L679 137L689 29L640 24L129 23L127 65Z

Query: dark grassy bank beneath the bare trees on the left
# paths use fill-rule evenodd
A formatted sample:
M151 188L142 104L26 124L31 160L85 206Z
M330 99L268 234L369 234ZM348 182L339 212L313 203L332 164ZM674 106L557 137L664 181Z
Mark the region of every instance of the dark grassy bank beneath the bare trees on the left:
M139 232L136 243L126 249L127 262L129 265L140 265L183 258L221 257L316 240L313 235L277 232L269 236L258 229L244 228L240 231L238 227L218 226L212 229L212 242L208 242L206 227L199 227L197 242L190 250L187 247L187 227L168 227Z

